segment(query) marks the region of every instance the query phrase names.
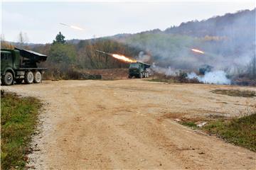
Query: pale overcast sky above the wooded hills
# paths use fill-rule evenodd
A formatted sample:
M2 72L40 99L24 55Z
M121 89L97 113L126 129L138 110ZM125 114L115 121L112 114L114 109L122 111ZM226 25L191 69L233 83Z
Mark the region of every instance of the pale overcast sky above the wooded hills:
M1 34L17 41L21 31L28 42L52 42L59 31L70 39L87 39L165 30L182 22L210 18L255 8L255 0L169 2L2 2ZM78 26L76 30L65 23Z

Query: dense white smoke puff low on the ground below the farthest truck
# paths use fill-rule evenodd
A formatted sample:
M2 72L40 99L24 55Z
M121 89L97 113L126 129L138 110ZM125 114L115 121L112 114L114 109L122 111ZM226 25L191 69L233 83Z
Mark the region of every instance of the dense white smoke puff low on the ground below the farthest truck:
M191 72L188 74L188 79L198 79L198 81L204 84L230 84L231 81L226 77L226 73L217 70L213 72L206 72L203 76L198 76L196 73Z

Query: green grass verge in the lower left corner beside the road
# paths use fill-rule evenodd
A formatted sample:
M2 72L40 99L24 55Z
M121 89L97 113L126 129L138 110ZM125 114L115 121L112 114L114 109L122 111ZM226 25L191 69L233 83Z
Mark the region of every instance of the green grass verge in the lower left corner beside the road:
M1 95L1 169L25 168L39 108L36 98Z

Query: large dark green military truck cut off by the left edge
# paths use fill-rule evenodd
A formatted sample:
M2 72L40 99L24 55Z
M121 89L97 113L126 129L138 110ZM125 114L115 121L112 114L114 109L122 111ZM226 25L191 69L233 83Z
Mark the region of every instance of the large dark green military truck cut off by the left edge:
M23 80L26 84L40 83L46 68L38 67L38 63L46 59L46 55L31 50L1 49L1 84L21 84Z

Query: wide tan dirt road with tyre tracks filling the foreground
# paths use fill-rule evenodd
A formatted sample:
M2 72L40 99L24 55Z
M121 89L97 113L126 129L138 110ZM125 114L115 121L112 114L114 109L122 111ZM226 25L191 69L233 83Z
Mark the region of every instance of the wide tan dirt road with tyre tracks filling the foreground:
M4 86L44 103L29 157L36 169L255 169L256 154L174 122L239 115L255 98L223 96L205 84L44 81Z

